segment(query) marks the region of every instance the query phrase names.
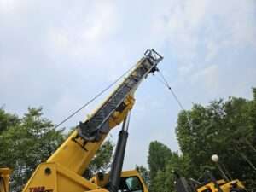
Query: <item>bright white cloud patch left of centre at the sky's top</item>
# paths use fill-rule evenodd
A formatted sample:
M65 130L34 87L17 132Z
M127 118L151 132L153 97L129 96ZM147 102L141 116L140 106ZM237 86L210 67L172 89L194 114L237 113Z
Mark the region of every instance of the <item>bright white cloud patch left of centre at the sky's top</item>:
M49 29L49 55L61 53L75 59L99 56L118 27L115 9L113 2L102 1L90 3L87 11L78 7L69 10L61 25Z

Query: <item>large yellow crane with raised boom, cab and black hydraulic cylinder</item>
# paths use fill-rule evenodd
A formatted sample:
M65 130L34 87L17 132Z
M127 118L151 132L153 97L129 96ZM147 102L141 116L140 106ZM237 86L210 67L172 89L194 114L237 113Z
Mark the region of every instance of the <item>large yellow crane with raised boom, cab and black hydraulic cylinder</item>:
M40 164L26 183L23 192L148 192L137 171L122 172L125 145L128 137L129 112L134 105L138 85L157 70L163 59L154 49L148 49L143 58L77 129L61 144L49 159ZM109 174L98 173L90 180L82 177L90 161L108 136L109 131L123 122ZM9 172L2 172L0 192L8 192Z

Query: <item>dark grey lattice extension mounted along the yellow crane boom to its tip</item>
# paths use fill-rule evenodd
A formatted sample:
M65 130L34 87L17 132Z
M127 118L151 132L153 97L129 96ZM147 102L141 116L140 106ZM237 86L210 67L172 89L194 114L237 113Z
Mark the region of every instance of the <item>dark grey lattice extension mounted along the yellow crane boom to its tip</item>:
M88 142L97 142L102 138L103 134L108 133L109 117L115 111L121 111L125 108L125 98L137 89L138 84L144 78L147 78L149 73L154 73L157 70L157 64L163 59L154 49L148 49L143 58L138 61L137 66L131 71L127 78L119 87L113 91L106 102L94 113L90 119L79 124L79 137L82 137Z

